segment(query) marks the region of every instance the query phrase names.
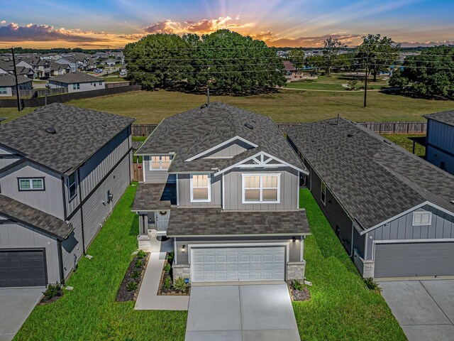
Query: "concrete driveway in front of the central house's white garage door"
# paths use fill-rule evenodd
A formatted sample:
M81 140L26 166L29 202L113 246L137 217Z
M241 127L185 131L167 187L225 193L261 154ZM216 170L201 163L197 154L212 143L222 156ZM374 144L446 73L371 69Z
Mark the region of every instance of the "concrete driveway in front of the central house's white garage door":
M287 284L193 286L186 341L296 341Z

